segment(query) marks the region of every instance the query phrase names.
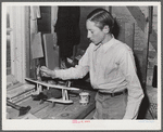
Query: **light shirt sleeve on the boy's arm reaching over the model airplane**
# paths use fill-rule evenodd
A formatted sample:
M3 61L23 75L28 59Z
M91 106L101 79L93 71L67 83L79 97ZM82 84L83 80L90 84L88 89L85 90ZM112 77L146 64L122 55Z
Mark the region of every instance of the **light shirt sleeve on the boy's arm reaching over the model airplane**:
M79 60L78 65L67 69L54 70L55 78L61 78L63 80L80 79L85 77L88 71L89 71L89 47L86 50L83 57Z

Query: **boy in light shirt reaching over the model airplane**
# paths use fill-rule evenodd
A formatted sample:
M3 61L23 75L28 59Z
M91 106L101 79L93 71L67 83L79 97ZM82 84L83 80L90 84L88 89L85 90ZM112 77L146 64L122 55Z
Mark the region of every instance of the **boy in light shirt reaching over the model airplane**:
M90 75L98 89L93 119L136 119L143 98L136 74L131 49L112 35L114 18L104 9L96 9L86 21L90 39L86 53L76 67L50 70L41 67L42 76L78 79Z

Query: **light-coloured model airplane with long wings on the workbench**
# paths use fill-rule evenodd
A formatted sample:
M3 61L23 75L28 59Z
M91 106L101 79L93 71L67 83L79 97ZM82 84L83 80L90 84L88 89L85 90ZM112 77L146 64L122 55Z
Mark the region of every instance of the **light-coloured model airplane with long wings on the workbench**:
M68 84L68 87L50 84L50 83L46 83L42 81L34 80L30 78L25 78L25 80L36 83L37 90L39 89L39 85L45 85L45 87L47 87L48 90L49 90L49 88L61 89L62 90L62 98L53 98L52 97L52 98L47 100L47 101L52 102L52 103L64 103L64 104L73 103L73 101L68 98L67 90L79 90L77 88L70 87L70 84Z

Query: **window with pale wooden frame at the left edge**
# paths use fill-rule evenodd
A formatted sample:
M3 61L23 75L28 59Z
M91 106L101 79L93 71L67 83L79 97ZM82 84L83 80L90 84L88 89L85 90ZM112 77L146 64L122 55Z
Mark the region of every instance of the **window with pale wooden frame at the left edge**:
M4 8L7 24L7 75L14 75L15 79L24 82L26 77L26 6L8 5Z

